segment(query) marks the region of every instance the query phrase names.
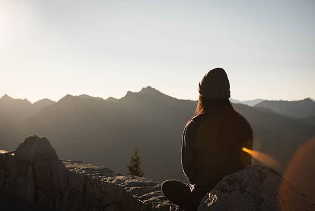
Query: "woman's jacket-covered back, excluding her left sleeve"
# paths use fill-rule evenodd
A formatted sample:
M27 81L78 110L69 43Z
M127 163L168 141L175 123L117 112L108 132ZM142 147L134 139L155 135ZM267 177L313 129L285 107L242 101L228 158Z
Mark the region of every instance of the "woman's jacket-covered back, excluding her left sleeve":
M206 116L191 141L196 144L196 165L207 189L224 176L251 165L251 156L242 150L252 148L251 129L237 112Z

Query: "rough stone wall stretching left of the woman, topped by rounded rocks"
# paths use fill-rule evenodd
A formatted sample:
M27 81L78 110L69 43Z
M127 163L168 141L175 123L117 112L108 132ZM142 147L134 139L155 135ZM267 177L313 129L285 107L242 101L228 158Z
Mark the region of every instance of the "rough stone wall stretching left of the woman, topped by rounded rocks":
M0 151L0 189L55 211L179 211L160 183L84 161L59 160L45 137Z

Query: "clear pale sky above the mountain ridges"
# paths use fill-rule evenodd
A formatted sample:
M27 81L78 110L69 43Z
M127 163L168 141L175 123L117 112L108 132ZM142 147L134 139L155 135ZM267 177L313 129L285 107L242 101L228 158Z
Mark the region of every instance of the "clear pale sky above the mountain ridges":
M0 96L196 100L223 67L238 100L315 99L315 0L0 0Z

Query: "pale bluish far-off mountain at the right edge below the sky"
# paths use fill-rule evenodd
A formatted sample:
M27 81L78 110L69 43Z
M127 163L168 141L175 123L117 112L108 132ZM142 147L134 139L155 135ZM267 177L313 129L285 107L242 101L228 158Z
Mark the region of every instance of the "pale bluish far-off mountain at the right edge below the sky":
M311 98L299 101L263 101L255 107L270 108L272 111L295 118L315 115L315 102Z

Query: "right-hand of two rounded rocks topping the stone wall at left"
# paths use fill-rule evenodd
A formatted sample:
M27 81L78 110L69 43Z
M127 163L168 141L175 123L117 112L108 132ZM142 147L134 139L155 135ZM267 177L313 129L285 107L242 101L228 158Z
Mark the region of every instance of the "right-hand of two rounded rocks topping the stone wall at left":
M35 140L26 156L26 161L28 163L54 160L58 160L58 156L55 149L51 147L49 141L45 137Z

